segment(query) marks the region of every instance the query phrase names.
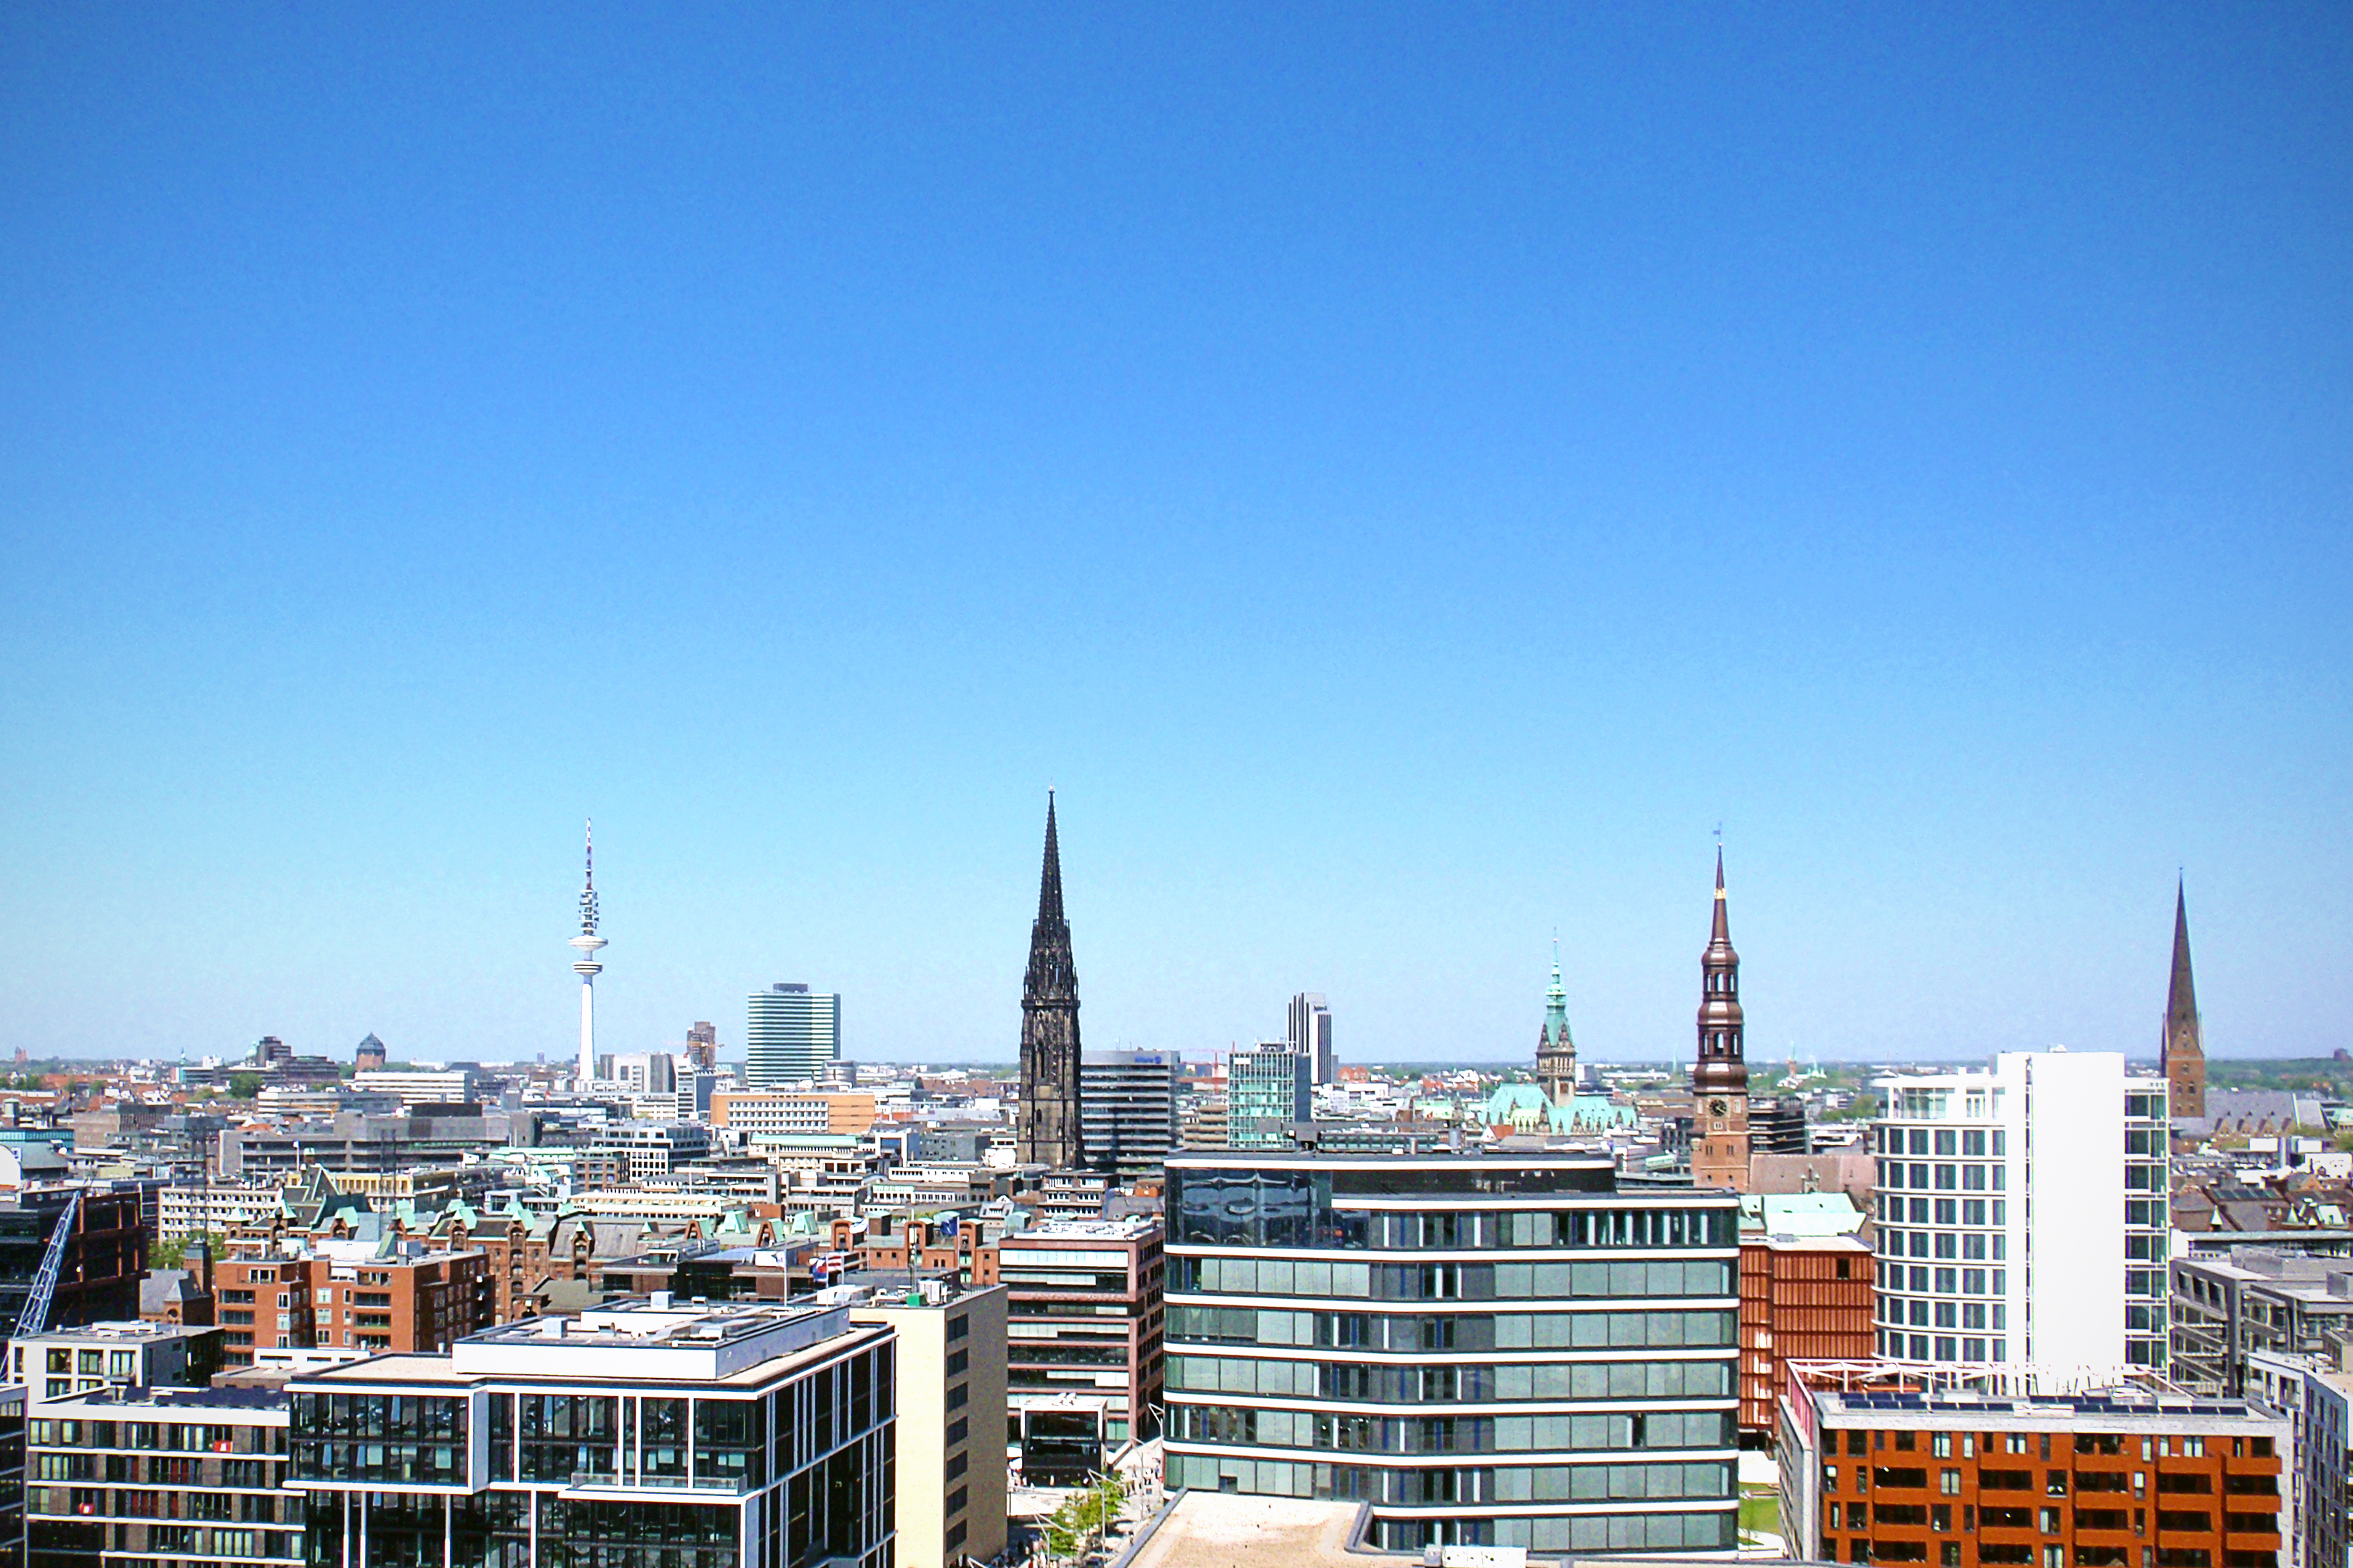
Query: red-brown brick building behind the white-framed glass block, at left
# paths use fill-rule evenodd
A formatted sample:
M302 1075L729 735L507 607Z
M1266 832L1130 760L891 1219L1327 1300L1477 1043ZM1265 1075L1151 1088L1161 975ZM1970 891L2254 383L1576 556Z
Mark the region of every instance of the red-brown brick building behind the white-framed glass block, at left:
M231 1258L214 1272L221 1361L256 1349L435 1354L492 1326L496 1286L480 1251Z

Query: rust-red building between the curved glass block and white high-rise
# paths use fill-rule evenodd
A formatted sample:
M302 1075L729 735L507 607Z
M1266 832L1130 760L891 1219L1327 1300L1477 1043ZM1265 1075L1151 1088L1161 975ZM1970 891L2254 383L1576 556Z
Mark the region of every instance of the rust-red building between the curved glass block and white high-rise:
M1772 1448L1791 1361L1868 1359L1871 1248L1854 1237L1741 1237L1741 1443Z

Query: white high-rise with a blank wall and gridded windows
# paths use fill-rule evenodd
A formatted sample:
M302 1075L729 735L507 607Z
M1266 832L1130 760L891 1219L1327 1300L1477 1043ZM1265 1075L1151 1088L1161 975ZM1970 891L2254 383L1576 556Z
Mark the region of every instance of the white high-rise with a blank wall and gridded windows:
M2005 1051L1873 1088L1880 1354L2165 1366L2162 1077Z

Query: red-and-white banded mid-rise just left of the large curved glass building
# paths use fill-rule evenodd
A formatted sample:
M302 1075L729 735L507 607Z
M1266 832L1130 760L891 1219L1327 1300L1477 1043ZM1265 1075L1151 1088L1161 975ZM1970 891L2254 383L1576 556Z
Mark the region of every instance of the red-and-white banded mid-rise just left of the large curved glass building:
M1007 1439L1033 1486L1071 1486L1160 1434L1160 1222L1047 1220L998 1241Z

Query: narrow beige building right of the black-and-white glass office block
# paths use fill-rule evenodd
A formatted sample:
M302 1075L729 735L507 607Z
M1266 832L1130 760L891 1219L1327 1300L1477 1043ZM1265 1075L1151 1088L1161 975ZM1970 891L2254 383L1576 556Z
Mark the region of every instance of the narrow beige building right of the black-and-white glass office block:
M1005 1286L873 1291L852 1324L899 1333L896 1568L1005 1549Z

